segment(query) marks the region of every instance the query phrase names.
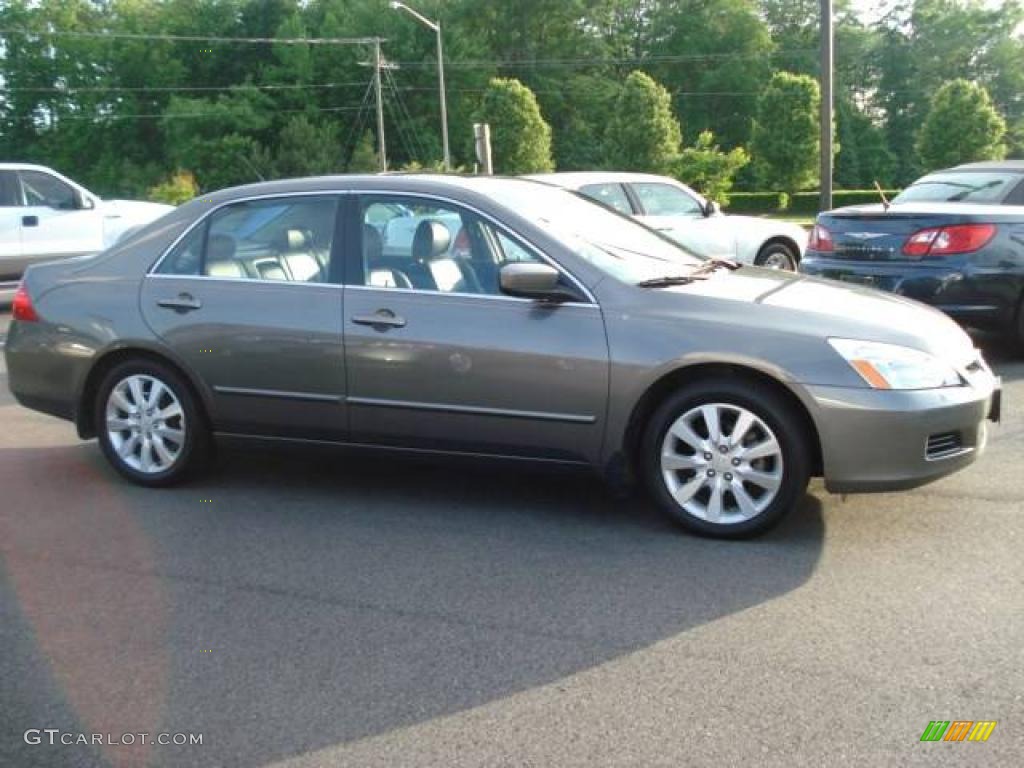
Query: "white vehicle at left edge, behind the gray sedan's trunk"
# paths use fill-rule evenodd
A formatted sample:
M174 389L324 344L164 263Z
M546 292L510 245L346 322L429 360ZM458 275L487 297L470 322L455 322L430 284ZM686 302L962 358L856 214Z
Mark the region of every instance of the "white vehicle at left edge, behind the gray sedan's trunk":
M29 264L97 253L173 206L100 200L38 165L0 163L0 303Z

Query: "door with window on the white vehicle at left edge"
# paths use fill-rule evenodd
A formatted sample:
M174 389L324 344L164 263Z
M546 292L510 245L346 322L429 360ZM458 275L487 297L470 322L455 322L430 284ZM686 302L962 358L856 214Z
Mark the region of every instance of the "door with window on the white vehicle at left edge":
M103 218L97 208L78 208L75 187L52 173L18 171L22 249L27 261L96 253L103 248Z

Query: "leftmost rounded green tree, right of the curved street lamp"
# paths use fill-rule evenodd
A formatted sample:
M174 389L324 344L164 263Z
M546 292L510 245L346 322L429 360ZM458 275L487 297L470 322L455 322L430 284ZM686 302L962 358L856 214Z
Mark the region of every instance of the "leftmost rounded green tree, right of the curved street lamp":
M490 152L496 172L519 174L554 170L551 127L541 115L534 92L518 80L492 80L474 120L490 124Z

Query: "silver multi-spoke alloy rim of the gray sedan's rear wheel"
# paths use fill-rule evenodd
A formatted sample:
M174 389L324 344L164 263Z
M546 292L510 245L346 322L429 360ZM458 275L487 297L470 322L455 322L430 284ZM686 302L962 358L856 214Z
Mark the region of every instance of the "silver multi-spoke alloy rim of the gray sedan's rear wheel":
M127 466L145 474L166 472L184 449L184 410L160 379L133 374L106 398L106 435Z

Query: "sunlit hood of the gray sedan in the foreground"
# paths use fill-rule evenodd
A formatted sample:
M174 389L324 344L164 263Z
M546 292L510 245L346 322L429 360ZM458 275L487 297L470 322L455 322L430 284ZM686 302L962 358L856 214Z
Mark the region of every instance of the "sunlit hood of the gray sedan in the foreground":
M662 301L702 317L718 315L754 330L901 344L963 367L977 356L974 342L942 312L891 293L777 269L717 270L706 281L653 289ZM683 297L690 297L681 301ZM715 301L714 310L692 297ZM731 302L723 305L722 302ZM668 307L666 307L668 309ZM671 310L670 310L671 311Z

